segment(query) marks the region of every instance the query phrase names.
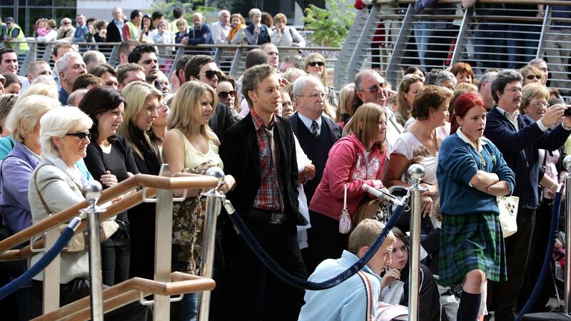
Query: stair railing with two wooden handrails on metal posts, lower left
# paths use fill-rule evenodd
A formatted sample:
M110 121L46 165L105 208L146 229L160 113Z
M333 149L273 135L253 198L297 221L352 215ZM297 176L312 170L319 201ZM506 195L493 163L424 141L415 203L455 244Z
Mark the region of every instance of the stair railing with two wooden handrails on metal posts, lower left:
M168 320L171 295L213 289L215 284L209 277L195 277L178 272L171 273L173 201L181 200L173 200L172 190L216 188L219 183L217 178L211 176L181 175L182 174L177 174L177 177L171 177L168 165L163 164L161 173L158 176L137 174L132 178L123 180L123 182L104 190L101 198L98 199L99 204L106 203L117 198L119 195L128 193L136 188L142 188L142 190L126 196L123 200L109 205L106 211L100 214L100 220L111 218L143 202L153 202L157 204L155 280L146 280L136 277L103 290L101 296L106 312L116 307L121 307L128 302L141 300L141 302L145 302L146 304L154 305L154 320ZM154 195L156 195L156 198L152 198ZM1 240L0 260L22 260L41 251L38 250L38 248L44 245L44 248L51 248L54 244L54 240L59 237L59 225L78 216L80 211L87 206L88 202L86 200L82 201L31 225L19 233L11 235L9 238ZM218 213L207 213L206 215L218 215ZM87 227L86 225L86 220L83 220L79 228L76 229L76 233L84 233ZM45 240L33 242L32 245L28 245L19 250L11 250L24 242L34 240L38 235L44 235ZM90 298L86 297L83 300L72 302L65 307L60 307L59 285L60 266L58 255L44 270L44 315L36 320L67 319L70 315L74 314L78 315L71 317L73 320L88 320L91 316ZM149 293L154 294L152 303L143 299L143 296Z

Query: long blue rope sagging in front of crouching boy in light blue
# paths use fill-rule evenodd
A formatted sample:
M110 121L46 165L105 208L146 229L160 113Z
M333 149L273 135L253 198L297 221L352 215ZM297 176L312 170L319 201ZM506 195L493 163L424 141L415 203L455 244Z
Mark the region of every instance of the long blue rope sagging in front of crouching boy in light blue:
M270 255L268 255L268 253L266 253L266 251L263 250L260 243L258 243L258 240L256 240L256 237L254 237L254 235L252 235L250 230L248 230L248 227L246 227L246 224L244 223L244 221L242 220L240 215L238 215L237 212L228 216L230 217L232 223L236 226L236 228L238 228L240 234L242 235L242 237L244 238L244 240L246 241L252 252L256 253L256 255L262 261L262 263L266 265L266 267L268 267L268 269L271 270L273 274L275 274L277 277L283 280L283 282L286 282L289 285L293 285L294 287L300 287L305 290L325 290L340 284L341 282L347 280L349 277L352 277L353 275L355 275L355 273L363 269L363 267L369 262L369 260L373 258L373 255L377 253L377 250L380 248L380 245L383 244L383 242L385 241L385 238L390 232L390 229L393 228L393 226L395 226L395 223L398 221L400 215L402 214L403 214L403 205L398 205L398 207L393 212L393 215L386 223L385 228L383 228L383 231L378 235L375 242L373 242L373 244L370 245L370 248L367 250L365 255L363 255L362 258L360 258L357 262L355 262L355 264L351 265L344 272L341 272L339 273L339 275L329 280L325 280L323 282L311 282L290 275L290 273L283 270L283 267L278 265L278 263L276 263L276 261L274 261L270 257Z

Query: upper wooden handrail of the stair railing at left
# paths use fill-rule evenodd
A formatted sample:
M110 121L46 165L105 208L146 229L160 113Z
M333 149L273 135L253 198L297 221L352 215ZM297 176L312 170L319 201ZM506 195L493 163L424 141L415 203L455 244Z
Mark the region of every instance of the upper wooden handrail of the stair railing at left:
M132 190L136 187L147 187L147 188L159 188L159 189L166 189L166 190L174 190L174 189L203 189L203 188L213 188L218 185L218 180L211 176L205 175L186 175L185 177L166 177L166 176L156 176L156 175L146 175L146 174L137 174L131 178L123 180L121 183L103 190L103 195L98 201L98 204L106 203L109 200L113 200L114 198L118 197L119 195L123 195L124 193ZM139 195L140 197L140 195ZM132 200L132 198L129 198ZM123 210L119 210L120 205L113 204L116 208L113 208L113 205L109 206L108 210L106 211L106 215L103 215L102 218L111 217L112 215L116 215L116 213L121 213ZM41 220L34 225L31 225L29 228L25 230L21 230L19 233L11 235L9 238L0 241L0 253L4 253L4 251L9 250L11 248L20 245L27 240L34 238L36 235L40 235L44 233L46 230L51 230L52 228L56 228L62 223L69 222L71 218L74 218L79 214L80 210L83 210L88 205L87 201L84 200L76 205L73 205L65 210L62 210L59 213L51 215L49 218L45 220ZM134 206L134 205L132 205ZM116 213L113 213L116 211ZM82 223L85 226L85 223ZM80 226L80 227L81 227ZM26 250L23 252L19 252L16 254L14 252L11 255L22 255L25 253Z

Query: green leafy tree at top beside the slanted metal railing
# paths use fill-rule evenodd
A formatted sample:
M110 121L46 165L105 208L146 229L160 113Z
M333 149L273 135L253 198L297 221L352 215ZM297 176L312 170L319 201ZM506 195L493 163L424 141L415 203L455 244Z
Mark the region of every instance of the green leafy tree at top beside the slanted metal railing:
M355 13L349 11L353 4L348 0L327 0L329 9L322 9L310 4L305 9L305 29L313 31L308 36L318 46L339 47L355 20Z

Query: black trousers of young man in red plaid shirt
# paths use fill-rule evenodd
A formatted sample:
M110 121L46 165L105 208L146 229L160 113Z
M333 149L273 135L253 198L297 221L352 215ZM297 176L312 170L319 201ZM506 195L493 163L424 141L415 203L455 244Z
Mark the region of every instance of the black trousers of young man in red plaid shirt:
M242 216L263 250L294 277L307 279L293 220L269 225ZM233 300L223 320L298 320L304 291L288 285L263 265L243 238L236 241L236 277L231 286Z

